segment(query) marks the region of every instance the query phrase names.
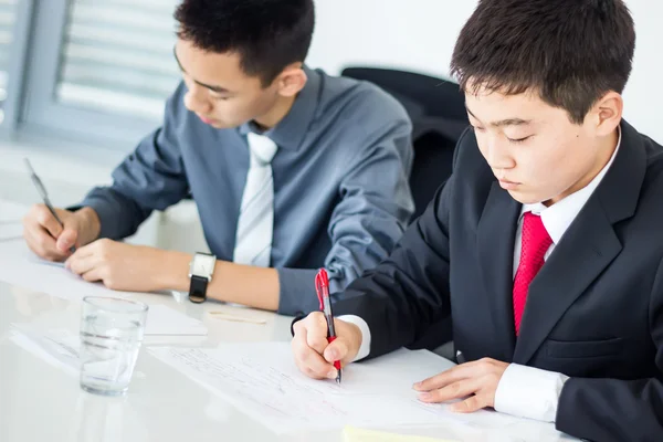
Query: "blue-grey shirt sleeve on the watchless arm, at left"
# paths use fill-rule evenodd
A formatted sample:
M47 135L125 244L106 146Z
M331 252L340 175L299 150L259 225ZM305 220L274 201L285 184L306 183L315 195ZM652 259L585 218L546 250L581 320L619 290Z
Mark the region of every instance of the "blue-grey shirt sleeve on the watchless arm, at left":
M166 104L162 127L143 139L113 171L113 185L93 189L80 204L97 212L101 238L129 236L152 210L165 210L187 196L189 185L177 137L186 110L183 93L181 84Z

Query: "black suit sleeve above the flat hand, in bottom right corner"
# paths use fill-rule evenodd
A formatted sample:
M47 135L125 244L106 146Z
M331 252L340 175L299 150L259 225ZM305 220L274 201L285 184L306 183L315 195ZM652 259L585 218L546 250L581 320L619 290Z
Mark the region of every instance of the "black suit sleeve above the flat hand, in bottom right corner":
M663 439L663 261L650 302L650 329L659 376L650 379L570 378L557 409L557 429L591 441Z

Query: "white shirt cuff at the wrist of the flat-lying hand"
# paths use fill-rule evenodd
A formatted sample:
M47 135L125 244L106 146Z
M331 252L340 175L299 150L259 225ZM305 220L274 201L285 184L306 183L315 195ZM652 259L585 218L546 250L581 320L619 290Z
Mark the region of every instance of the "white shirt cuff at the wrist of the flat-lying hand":
M495 391L495 410L519 418L555 422L568 376L534 367L509 365Z

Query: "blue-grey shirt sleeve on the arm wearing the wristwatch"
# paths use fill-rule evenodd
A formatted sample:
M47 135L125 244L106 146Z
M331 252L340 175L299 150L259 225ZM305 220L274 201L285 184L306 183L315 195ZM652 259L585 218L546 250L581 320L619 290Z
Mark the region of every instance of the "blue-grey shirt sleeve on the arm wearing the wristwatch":
M325 257L329 290L340 292L372 269L396 246L414 210L408 177L412 165L412 126L407 115L394 119L361 143L339 185ZM317 269L280 269L278 313L316 311L313 280Z

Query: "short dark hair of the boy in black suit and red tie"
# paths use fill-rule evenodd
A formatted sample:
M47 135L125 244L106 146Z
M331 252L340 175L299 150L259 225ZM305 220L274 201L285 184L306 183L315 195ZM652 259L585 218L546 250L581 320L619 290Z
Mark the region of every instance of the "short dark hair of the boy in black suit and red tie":
M634 49L622 0L481 0L457 39L451 73L466 92L538 92L581 124L606 93L622 93Z

